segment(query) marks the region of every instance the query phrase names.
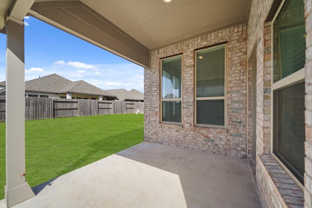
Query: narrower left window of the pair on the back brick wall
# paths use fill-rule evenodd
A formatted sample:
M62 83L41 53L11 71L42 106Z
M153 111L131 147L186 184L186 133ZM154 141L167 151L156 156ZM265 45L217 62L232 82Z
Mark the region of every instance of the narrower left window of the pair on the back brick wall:
M161 60L161 121L182 121L182 56Z

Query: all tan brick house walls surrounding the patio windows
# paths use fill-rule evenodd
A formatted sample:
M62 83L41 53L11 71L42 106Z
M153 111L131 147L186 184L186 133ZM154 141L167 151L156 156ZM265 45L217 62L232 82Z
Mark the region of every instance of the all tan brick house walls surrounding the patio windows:
M271 22L273 0L253 0L245 24L183 41L151 53L145 70L145 141L201 151L252 156L253 77L256 80L256 185L263 207L312 208L312 0L306 16L305 185L303 192L271 155ZM227 128L194 126L194 50L227 41ZM182 124L160 122L160 58L183 56ZM256 57L256 66L253 58ZM249 59L248 59L249 58ZM254 70L256 68L256 70ZM256 72L256 74L254 74ZM189 125L190 124L190 125Z

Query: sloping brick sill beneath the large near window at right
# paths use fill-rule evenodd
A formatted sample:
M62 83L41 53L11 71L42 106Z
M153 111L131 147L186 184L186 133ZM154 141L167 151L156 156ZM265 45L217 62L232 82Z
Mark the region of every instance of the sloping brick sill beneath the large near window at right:
M264 170L267 171L267 175L269 175L269 178L267 180L270 180L272 185L269 184L269 186L273 187L273 190L275 190L276 194L280 201L283 201L286 205L286 207L303 207L304 206L304 193L303 191L297 186L297 184L292 180L292 178L287 174L287 172L280 166L280 164L274 159L274 157L271 154L262 154L258 155L260 159L260 166L263 165ZM258 166L258 165L257 165ZM256 173L263 175L264 173ZM257 176L258 180L263 186L266 186L263 184L263 181L261 176ZM259 186L260 184L258 184ZM268 187L262 187L261 189L268 189ZM270 194L270 192L267 192L267 194ZM272 194L272 193L271 193ZM273 196L271 196L273 197Z

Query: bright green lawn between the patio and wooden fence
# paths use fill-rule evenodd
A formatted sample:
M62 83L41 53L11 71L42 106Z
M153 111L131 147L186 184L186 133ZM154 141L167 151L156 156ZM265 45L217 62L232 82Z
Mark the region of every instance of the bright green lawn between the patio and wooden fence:
M37 186L143 141L143 114L25 121L26 180ZM5 186L5 123L0 123L0 200Z

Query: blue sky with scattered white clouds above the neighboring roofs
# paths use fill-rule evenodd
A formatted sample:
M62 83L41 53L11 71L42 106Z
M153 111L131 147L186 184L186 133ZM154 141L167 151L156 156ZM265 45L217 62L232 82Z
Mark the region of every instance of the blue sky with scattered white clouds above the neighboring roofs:
M143 92L144 69L33 17L25 22L25 80L56 73L103 90ZM5 35L0 34L0 81L5 80Z

